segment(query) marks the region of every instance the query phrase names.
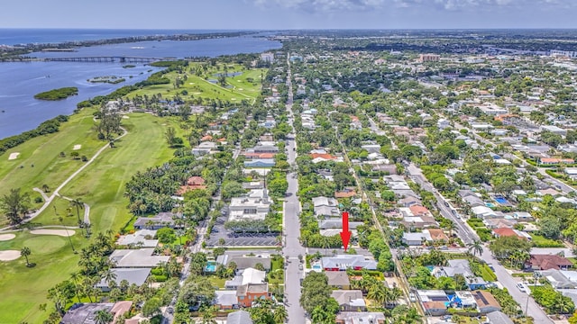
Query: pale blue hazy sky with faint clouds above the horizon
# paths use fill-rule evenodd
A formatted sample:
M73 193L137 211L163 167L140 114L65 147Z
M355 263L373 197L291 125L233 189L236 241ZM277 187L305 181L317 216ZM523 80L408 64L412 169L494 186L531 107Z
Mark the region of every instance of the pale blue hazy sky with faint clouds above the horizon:
M576 0L17 0L0 28L577 28Z

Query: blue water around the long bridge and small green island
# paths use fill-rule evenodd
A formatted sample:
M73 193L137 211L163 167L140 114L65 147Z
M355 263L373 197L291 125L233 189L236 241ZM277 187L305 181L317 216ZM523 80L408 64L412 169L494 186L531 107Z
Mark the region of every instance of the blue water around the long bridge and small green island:
M11 33L9 31L14 31ZM26 33L24 31L30 31ZM33 32L32 32L33 31ZM153 31L70 31L70 30L0 30L0 43L57 42L68 40L102 40L109 38L151 35ZM163 31L162 34L184 33ZM189 31L192 32L192 31ZM211 31L204 31L211 32ZM132 56L152 58L189 58L260 53L280 49L278 41L264 37L231 37L206 40L162 40L111 44L78 48L75 52L31 53L39 58ZM36 128L42 121L59 114L70 114L77 103L96 95L109 94L123 85L146 79L158 68L136 64L123 68L120 63L28 62L0 63L0 139ZM117 85L92 84L95 76L122 76L126 82ZM133 76L132 78L130 76ZM62 101L36 100L34 94L64 86L78 87L78 95Z

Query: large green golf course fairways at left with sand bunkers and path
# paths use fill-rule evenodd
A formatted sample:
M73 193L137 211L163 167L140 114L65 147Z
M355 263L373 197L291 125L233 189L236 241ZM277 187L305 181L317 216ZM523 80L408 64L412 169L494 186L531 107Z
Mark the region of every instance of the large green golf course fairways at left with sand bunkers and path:
M84 143L79 141L82 136L78 130L82 127L75 125L75 123L84 124L84 122L75 115L70 125L60 130L58 134L53 137L41 138L47 140L47 143L36 142L36 145L33 146L31 145L32 141L29 141L21 146L23 148L17 147L13 150L26 151L28 152L26 154L30 154L27 158L32 158L38 154L32 147L50 147L54 155L57 155L58 152L68 148L71 144ZM164 131L169 126L178 128L176 119L160 119L148 113L133 113L129 119L123 120L123 125L129 134L116 142L116 148L105 149L93 164L87 166L82 173L60 191L64 196L80 198L91 206L90 220L95 234L107 229L117 231L122 228L131 218L131 214L126 208L128 200L124 197L126 182L137 171L160 165L172 157L173 149L166 144ZM85 138L92 135L92 133L83 134ZM102 145L104 145L103 142L95 142L93 147L100 148ZM44 154L48 155L48 152L46 151ZM7 159L6 155L3 157ZM36 158L40 160L41 155ZM52 163L47 163L44 167L58 163L59 158L53 157ZM48 159L50 160L50 158ZM37 163L38 166L41 165L41 162ZM78 168L76 161L72 161L69 165L63 164L62 167L52 171L58 173L57 175L44 172L41 167L35 166L33 170L38 170L37 173L28 175L25 181L32 183L32 180L35 180L40 183L40 186L48 177L51 179L50 186L56 187L59 184L57 180L63 181L76 168ZM27 170L30 173L32 168L27 167ZM5 172L2 167L0 167L0 172ZM12 179L11 176L14 175L10 173L6 175L5 173L4 176ZM5 178L1 179L2 187L4 187ZM14 180L9 181L12 183ZM76 225L78 223L75 209L71 211L72 215L68 216L69 212L66 211L69 208L68 201L56 199L52 205L56 206L57 212L64 218L65 224ZM80 212L82 217L83 211ZM60 225L60 222L55 219L52 206L43 211L34 222L40 222L42 225ZM87 239L81 238L81 235L77 234L73 237L73 243L75 247L80 248L87 245ZM10 296L10 298L0 299L0 310L10 310L9 312L0 311L0 323L17 323L20 320L40 323L48 316L48 312L41 312L38 309L39 304L48 302L46 299L48 289L67 279L69 274L77 268L78 256L70 252L67 238L38 237L29 233L19 233L14 240L0 242L0 249L20 249L24 245L31 247L31 262L38 266L27 268L23 266L24 261L20 259L7 263L0 262L0 292ZM49 302L48 309L50 310L52 307Z

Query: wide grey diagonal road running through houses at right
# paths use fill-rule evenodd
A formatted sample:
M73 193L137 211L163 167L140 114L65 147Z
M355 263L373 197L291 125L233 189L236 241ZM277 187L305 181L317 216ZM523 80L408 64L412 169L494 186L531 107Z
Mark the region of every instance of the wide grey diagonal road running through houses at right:
M469 244L474 240L478 240L479 237L477 233L475 233L463 220L457 219L453 212L451 211L450 207L445 205L444 197L439 194L436 189L433 187L433 184L430 184L426 181L425 175L421 173L421 169L415 166L414 164L410 164L407 167L408 173L411 178L421 186L421 188L425 189L428 192L435 193L435 197L437 199L437 208L441 212L444 218L453 220L453 222L457 225L457 235L459 238L463 240L463 243ZM449 202L447 202L449 203ZM449 203L450 205L450 203ZM553 320L550 320L549 317L533 300L530 298L527 293L521 293L521 291L517 288L517 280L513 278L507 271L504 266L500 266L497 263L497 260L492 256L488 247L483 247L483 253L481 255L481 259L485 260L487 263L492 264L493 268L495 269L495 275L497 275L497 280L500 284L502 284L505 288L507 288L508 293L513 297L513 299L521 305L523 312L526 312L528 316L532 317L535 323L553 323Z

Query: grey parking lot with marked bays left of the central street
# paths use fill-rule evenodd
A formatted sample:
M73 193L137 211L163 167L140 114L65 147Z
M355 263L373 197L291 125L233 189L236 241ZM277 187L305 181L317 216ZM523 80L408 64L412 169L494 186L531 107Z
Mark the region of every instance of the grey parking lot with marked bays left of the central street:
M234 233L224 229L224 221L226 221L226 216L220 216L216 219L210 238L206 240L208 247L219 246L220 238L224 239L225 247L271 247L278 245L278 233Z

